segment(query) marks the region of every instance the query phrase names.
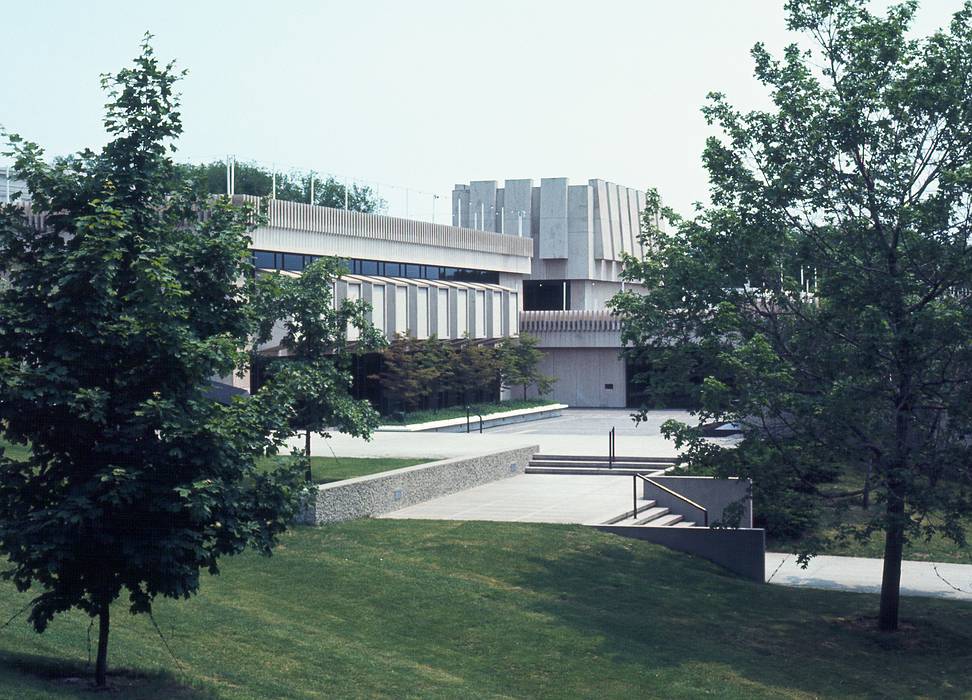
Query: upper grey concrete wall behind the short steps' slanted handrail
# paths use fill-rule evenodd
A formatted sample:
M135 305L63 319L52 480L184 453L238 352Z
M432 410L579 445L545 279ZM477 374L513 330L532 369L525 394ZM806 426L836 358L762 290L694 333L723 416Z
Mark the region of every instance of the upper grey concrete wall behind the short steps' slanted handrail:
M748 479L715 479L710 476L652 476L662 486L690 498L709 511L709 525L723 522L728 515L724 511L735 503L742 504L742 517L739 527L753 526L753 499L750 495L751 484ZM671 509L686 520L702 524L702 513L685 501L671 496L647 482L642 482L645 498L658 502L658 505Z

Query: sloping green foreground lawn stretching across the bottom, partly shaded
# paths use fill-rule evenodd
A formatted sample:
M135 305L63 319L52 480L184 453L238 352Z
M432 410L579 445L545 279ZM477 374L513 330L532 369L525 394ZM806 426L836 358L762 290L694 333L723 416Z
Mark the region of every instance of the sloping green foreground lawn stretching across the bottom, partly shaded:
M0 584L0 614L29 600ZM972 605L735 578L580 526L360 520L225 560L155 618L119 603L125 698L969 697ZM0 631L0 695L87 698L87 618ZM161 669L167 669L162 671Z

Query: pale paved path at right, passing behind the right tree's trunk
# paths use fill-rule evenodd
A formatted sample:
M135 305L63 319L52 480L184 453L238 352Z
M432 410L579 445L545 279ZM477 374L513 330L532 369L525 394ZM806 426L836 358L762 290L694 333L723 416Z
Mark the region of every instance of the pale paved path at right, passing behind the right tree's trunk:
M766 578L781 586L878 593L883 565L881 559L819 556L801 569L795 554L767 552ZM901 595L972 601L972 565L901 562Z

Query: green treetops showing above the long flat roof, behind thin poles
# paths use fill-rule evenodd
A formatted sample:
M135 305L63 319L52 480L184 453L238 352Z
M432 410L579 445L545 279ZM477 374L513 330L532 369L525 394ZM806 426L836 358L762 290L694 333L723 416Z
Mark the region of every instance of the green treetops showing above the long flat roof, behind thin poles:
M226 194L226 163L214 161L202 165L177 166L180 177L189 179L210 194ZM360 211L365 214L379 212L385 202L367 185L350 187L328 175L321 179L313 173L273 173L255 163L234 164L234 193L256 197L275 196L290 202L311 201L313 179L313 203L322 207Z

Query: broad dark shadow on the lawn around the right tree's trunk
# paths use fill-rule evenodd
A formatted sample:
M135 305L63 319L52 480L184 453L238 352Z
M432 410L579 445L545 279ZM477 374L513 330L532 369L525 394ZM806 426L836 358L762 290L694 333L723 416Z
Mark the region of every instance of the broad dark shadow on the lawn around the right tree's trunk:
M906 629L882 634L867 624L875 596L753 583L627 542L531 558L513 582L541 594L531 607L602 639L603 653L624 663L724 664L764 687L814 696L972 691L972 605L912 599L902 606Z

